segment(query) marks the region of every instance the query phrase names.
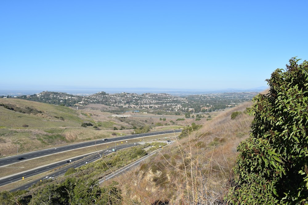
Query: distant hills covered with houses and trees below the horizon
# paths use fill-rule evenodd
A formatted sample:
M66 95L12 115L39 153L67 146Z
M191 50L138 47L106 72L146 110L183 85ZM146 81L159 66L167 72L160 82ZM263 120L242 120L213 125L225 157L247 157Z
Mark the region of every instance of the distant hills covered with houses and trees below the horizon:
M237 104L251 101L256 94L256 92L229 92L178 97L167 93L143 93L140 95L136 93L108 94L99 92L90 96L78 96L62 92L44 91L35 95L23 95L16 98L79 108L88 104L103 104L116 107L117 109L110 111L114 113L131 109L146 109L146 112L154 113L160 110L176 114L176 112L212 112L218 109L234 107Z

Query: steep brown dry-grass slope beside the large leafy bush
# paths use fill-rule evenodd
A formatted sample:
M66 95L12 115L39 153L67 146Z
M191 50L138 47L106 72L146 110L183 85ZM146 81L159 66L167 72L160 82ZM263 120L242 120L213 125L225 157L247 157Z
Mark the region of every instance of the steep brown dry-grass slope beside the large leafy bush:
M249 136L253 117L245 111L250 106L245 103L219 114L118 178L125 204L220 203L228 189L237 146ZM233 112L238 115L231 119Z

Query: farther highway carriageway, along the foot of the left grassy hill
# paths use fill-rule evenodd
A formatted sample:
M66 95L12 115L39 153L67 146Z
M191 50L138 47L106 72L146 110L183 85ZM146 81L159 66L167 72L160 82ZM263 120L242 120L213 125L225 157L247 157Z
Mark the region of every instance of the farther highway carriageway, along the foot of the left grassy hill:
M1 158L0 159L0 167L8 165L8 164L18 163L18 162L24 161L24 160L30 160L30 159L43 157L43 156L47 156L47 155L51 155L51 154L56 154L56 153L59 153L59 152L66 152L66 151L70 151L70 150L74 150L74 149L78 149L78 148L95 146L95 145L98 145L98 144L105 144L105 143L109 143L109 142L129 140L129 139L133 139L133 138L148 137L148 136L170 134L170 133L177 133L177 132L182 132L182 130L168 130L168 131L160 131L160 132L150 132L150 133L145 133L145 134L127 135L127 136L121 136L121 137L108 138L107 141L102 141L100 139L100 140L93 140L93 141L88 141L88 142L81 142L81 143L77 143L77 144L65 145L65 146L57 147L57 148L49 148L49 149L44 149L44 150L39 150L39 151L34 151L34 152L28 152L28 153L18 154L18 155L15 155L15 156ZM25 159L24 160L17 160L19 157L23 157Z

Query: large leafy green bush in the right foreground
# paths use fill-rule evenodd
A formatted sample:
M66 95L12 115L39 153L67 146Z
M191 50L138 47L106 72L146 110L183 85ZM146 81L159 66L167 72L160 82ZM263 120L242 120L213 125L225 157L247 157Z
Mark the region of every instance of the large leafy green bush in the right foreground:
M233 204L308 204L308 63L276 69L254 98L250 138L238 146Z

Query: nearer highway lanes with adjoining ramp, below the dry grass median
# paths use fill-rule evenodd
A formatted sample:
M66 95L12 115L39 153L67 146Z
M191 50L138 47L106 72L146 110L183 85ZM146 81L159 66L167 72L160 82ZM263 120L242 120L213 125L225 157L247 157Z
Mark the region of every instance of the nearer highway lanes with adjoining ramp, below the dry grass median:
M129 147L136 146L136 145L139 145L139 144L138 143L132 143L132 144L118 145L116 147L116 150L120 150L120 149L124 149L124 148L129 148ZM115 147L113 147L113 148L115 148ZM55 164L49 164L49 165L47 165L45 167L42 167L42 168L39 168L39 169L34 169L32 171L27 171L27 172L24 172L22 174L10 176L10 177L8 177L6 179L1 179L0 180L0 186L6 185L6 184L9 184L9 183L13 183L13 182L18 181L18 180L22 180L22 177L27 179L27 178L32 177L34 175L37 175L39 173L43 173L45 171L49 171L49 170L52 170L52 169L57 168L59 166L67 164L67 166L65 166L63 168L60 168L57 171L51 172L50 174L45 175L45 176L43 176L43 177L41 177L39 179L32 180L32 181L30 181L28 183L23 184L22 186L15 187L14 189L12 189L10 191L26 190L29 187L31 187L33 184L39 182L40 180L43 181L43 180L47 180L47 179L54 179L56 177L64 175L69 168L81 167L81 166L83 166L83 165L85 165L87 163L90 163L90 162L93 162L95 160L98 160L99 158L101 158L101 156L105 156L105 155L109 154L110 152L112 152L112 148L109 148L107 150L103 150L103 151L101 151L99 153L96 153L96 154L88 154L88 155L80 156L78 158L73 158L71 163L66 163L65 161L58 162L58 163L55 163ZM82 160L80 160L80 159L82 159Z

